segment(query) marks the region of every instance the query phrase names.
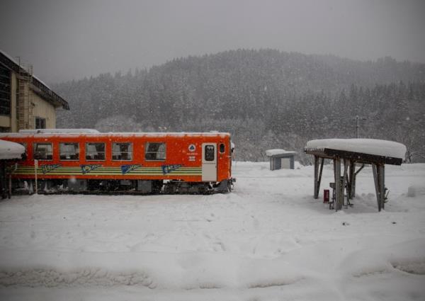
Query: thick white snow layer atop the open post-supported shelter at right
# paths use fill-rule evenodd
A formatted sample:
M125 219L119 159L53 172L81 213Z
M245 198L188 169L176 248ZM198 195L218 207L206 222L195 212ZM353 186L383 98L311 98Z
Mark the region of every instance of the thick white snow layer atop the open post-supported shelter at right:
M307 142L306 149L339 149L404 159L404 144L376 139L320 139Z

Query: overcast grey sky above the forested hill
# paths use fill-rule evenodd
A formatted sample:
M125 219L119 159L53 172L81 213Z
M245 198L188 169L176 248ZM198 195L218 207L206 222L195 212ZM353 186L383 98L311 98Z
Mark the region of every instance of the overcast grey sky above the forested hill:
M0 49L47 83L273 48L425 62L424 0L1 0Z

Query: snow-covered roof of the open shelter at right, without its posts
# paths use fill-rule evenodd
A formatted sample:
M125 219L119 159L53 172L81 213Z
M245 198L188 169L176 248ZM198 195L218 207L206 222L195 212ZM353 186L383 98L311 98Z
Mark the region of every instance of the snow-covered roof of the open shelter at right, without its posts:
M358 161L401 164L406 147L399 142L376 139L321 139L307 142L305 152L322 157L348 157Z

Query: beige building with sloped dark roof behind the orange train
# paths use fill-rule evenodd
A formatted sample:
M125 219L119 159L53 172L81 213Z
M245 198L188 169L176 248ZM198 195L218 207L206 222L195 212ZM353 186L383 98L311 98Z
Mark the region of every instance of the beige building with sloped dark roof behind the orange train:
M0 132L55 128L58 109L69 110L69 104L30 65L0 50Z

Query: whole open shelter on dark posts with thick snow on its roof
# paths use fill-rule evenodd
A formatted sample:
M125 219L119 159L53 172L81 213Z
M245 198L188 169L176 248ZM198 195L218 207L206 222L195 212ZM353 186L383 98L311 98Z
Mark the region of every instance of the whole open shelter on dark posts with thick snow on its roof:
M307 142L305 152L314 156L314 198L319 198L320 182L322 180L323 164L325 159L334 161L334 208L341 210L344 203L344 192L346 192L347 203L356 195L356 176L363 169L365 164L371 164L373 169L373 178L375 181L376 200L378 211L384 209L386 195L385 192L385 164L401 165L402 157L406 147L397 142L385 140L366 140L352 139L348 140L312 140ZM340 143L340 142L355 142ZM362 147L365 144L372 143L373 148ZM382 147L380 147L382 142ZM340 147L340 146L343 147ZM359 147L360 146L360 147ZM392 152L385 152L391 149ZM404 147L404 151L403 151ZM348 150L347 150L348 149ZM351 150L349 150L351 149ZM361 151L359 151L361 150ZM398 153L398 154L397 154ZM388 155L391 154L392 156ZM402 154L402 155L401 155ZM341 173L341 163L344 169ZM356 166L360 166L356 170Z

